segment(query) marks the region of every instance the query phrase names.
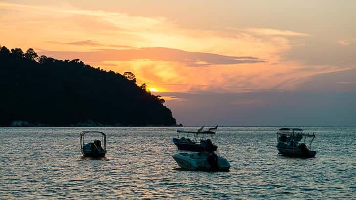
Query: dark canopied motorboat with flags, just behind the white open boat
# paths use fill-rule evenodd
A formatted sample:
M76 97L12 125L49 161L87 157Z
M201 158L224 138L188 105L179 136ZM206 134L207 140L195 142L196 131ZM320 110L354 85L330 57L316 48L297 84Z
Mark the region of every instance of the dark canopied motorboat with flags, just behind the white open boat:
M193 151L193 152L211 152L216 151L218 146L212 143L213 136L217 130L218 126L209 128L208 131L202 131L204 126L202 126L198 131L183 131L178 130L177 137L173 137L173 143L178 147L179 150ZM187 133L186 137L180 137L179 134ZM193 138L189 138L189 134L193 134ZM204 136L207 136L204 137ZM198 143L198 140L200 141Z

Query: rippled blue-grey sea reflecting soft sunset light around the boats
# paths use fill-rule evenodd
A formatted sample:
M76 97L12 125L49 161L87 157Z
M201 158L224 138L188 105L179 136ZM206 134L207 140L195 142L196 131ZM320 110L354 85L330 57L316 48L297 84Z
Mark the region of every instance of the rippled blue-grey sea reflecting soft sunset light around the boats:
M192 172L176 127L0 128L0 199L356 199L356 128L306 127L309 159L277 155L276 129L219 127L230 172ZM106 158L82 157L85 130L107 133Z

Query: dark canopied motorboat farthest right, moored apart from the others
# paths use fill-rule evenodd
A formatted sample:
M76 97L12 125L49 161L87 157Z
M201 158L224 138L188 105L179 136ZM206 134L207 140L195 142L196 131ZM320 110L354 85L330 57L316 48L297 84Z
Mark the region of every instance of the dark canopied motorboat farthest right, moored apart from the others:
M304 142L300 142L304 137ZM312 138L308 147L306 138ZM282 128L277 131L277 150L279 154L289 157L314 157L315 151L311 150L315 133L304 133L302 129Z

